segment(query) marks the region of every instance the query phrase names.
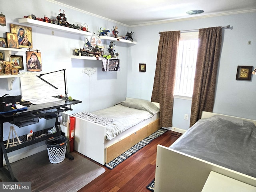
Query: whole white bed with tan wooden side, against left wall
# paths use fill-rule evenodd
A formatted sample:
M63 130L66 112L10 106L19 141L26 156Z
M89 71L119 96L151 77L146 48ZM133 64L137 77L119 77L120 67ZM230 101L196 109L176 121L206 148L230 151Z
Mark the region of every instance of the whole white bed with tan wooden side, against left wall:
M146 100L126 98L110 108L81 113L66 117L76 118L74 150L102 165L160 128L159 103Z

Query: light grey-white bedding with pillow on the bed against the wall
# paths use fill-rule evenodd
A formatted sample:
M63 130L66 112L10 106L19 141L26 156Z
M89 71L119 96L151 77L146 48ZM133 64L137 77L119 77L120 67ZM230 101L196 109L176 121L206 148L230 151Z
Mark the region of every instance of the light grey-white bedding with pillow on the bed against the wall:
M106 140L112 140L128 128L154 116L159 108L150 101L128 99L112 107L92 113L80 112L73 114L88 121L104 125Z

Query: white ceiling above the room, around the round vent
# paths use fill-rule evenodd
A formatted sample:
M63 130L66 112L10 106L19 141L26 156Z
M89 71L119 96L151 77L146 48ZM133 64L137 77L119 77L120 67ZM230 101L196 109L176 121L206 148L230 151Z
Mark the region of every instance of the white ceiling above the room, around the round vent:
M256 11L256 0L49 0L126 26ZM189 10L204 10L199 15Z

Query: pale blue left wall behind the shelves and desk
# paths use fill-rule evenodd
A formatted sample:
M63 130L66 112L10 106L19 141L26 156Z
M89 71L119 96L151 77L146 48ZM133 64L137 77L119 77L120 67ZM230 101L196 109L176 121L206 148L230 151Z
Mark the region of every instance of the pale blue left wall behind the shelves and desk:
M18 0L2 0L1 8L0 12L6 16L6 26L0 26L0 37L6 37L5 32L10 32L10 23L19 24L18 19L23 18L23 16L34 14L36 17L40 18L43 18L44 15L49 18L56 18L60 9L65 11L67 21L70 24L86 23L89 26L89 30L96 34L98 34L100 27L109 28L109 30L112 31L113 26L117 25L119 34L123 35L125 35L128 30L127 26L123 26L104 18L91 16L85 12L79 12L72 8L54 4L50 0L26 0L22 1L22 3ZM20 25L29 26L26 24ZM120 59L120 71L102 72L100 61L76 60L70 58L74 48L83 47L85 36L37 26L31 27L33 49L40 50L42 55L42 73L65 68L67 74L68 96L72 96L72 98L82 101L82 104L73 105L73 111L69 111L69 113L80 111L92 112L125 100L127 91L127 68L128 64L131 63L129 61L130 57L128 57L128 53L129 48L132 45L116 42L116 51L119 53ZM54 31L54 35L52 35L52 31ZM109 41L102 42L105 44L106 48L110 45ZM15 54L23 56L23 61L25 62L25 52L16 52ZM85 68L93 68L96 72L89 77L82 72ZM20 72L26 72L26 70L25 62L24 70L20 70ZM19 78L15 78L12 86L12 90L9 91L7 79L0 78L0 96L3 96L6 93L11 96L22 94ZM4 140L8 139L10 125L11 124L9 123L4 124ZM23 128L18 128L17 126L14 127L18 135L23 135L30 132L31 129L36 131L43 128L50 128L51 126L54 126L54 120L45 121L40 119L38 124ZM42 144L44 144L44 142L37 145L40 146ZM35 146L36 145L33 145L28 148L11 152L8 156L10 157L22 151L28 151Z

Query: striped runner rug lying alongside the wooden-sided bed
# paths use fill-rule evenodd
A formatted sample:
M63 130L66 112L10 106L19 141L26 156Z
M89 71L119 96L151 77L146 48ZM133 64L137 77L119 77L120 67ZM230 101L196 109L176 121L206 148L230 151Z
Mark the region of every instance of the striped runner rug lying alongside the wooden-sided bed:
M109 169L115 168L118 164L122 163L124 160L126 160L128 157L132 156L134 153L136 153L138 150L149 144L153 139L159 137L160 135L164 134L167 130L160 128L156 132L152 133L150 136L146 137L142 141L138 142L136 145L128 149L126 152L115 158L114 160L110 161L108 164L105 164L105 166Z

